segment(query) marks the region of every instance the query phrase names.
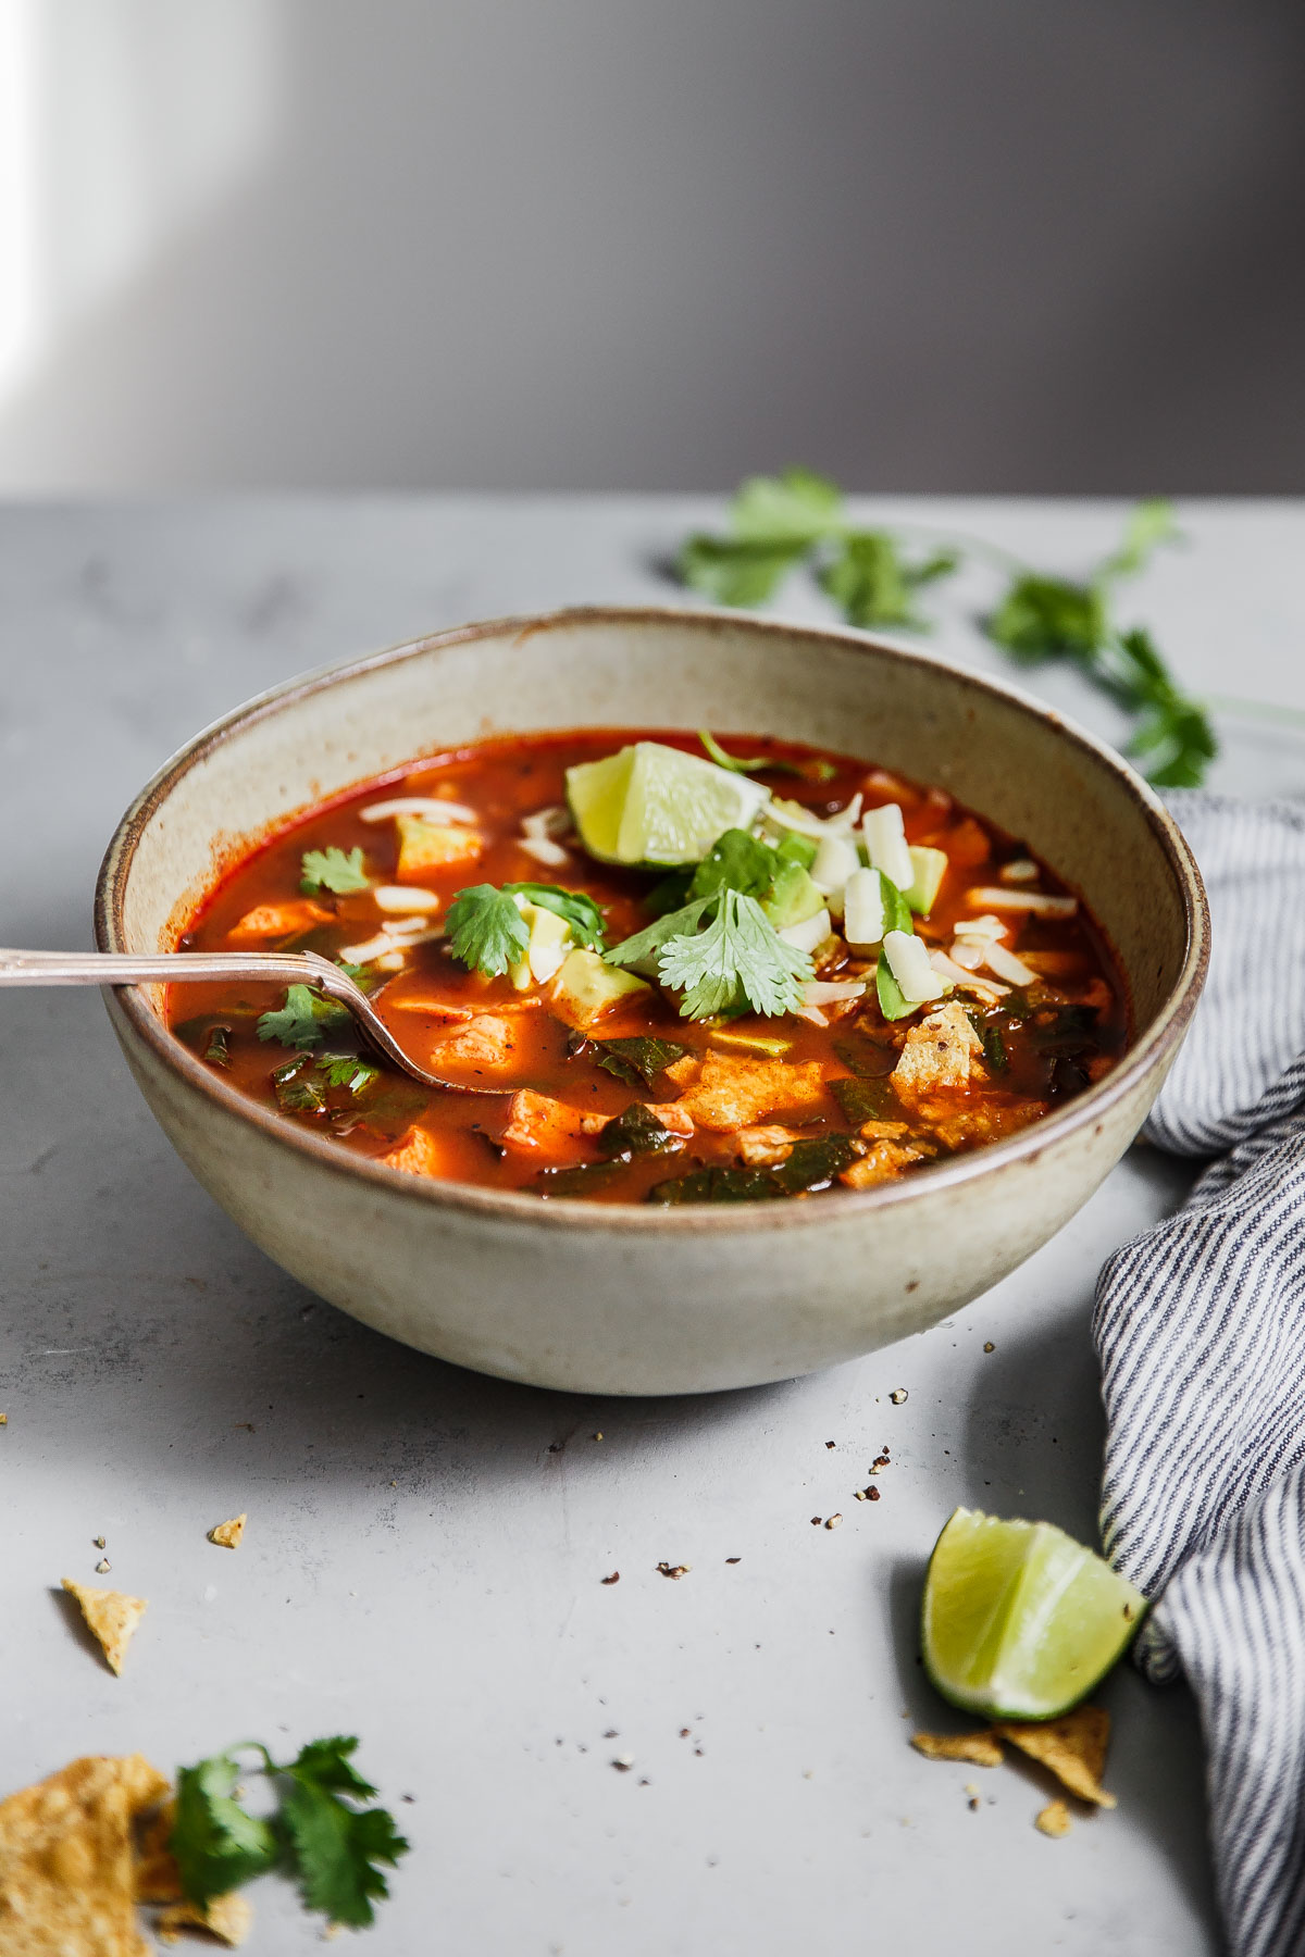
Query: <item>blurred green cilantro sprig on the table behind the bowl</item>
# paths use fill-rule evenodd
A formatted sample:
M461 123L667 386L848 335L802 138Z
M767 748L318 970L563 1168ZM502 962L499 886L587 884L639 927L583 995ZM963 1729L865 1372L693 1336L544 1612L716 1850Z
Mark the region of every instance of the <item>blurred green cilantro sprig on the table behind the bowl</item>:
M1147 761L1160 789L1197 787L1219 751L1207 710L1182 691L1154 638L1117 618L1117 585L1137 575L1154 550L1174 542L1172 505L1137 503L1125 534L1084 581L1013 564L972 544L974 554L1008 564L1008 587L982 628L1021 665L1070 660L1137 720L1127 751ZM849 524L835 483L810 470L753 476L730 505L730 534L695 534L679 556L679 575L718 605L763 605L781 577L808 564L855 626L923 630L918 591L959 568L963 548L943 544L910 558L888 530ZM718 765L728 765L718 761Z

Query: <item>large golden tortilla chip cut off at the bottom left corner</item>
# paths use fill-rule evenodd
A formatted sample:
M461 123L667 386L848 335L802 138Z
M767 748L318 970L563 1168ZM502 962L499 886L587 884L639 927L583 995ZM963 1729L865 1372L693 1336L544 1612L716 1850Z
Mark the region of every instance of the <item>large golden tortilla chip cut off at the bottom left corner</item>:
M0 1800L6 1957L149 1957L137 1928L131 1830L168 1783L141 1753L74 1759Z

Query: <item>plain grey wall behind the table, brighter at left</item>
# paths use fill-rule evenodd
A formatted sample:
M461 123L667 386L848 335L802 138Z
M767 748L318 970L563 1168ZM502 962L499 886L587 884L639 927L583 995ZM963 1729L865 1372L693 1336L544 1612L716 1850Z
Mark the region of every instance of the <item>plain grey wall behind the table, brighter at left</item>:
M1299 0L0 8L0 489L1305 487Z

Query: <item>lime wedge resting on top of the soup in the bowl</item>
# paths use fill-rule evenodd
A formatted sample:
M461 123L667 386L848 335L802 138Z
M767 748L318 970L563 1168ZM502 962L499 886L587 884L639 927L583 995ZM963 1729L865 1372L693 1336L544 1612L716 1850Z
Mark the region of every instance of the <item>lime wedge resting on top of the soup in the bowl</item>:
M579 761L565 779L579 840L605 863L698 863L771 798L745 775L655 740Z

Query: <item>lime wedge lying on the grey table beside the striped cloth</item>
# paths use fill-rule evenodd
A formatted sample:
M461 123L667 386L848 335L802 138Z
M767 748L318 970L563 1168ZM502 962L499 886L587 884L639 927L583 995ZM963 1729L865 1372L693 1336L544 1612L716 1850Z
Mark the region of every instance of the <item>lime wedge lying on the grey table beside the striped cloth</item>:
M1109 1671L1145 1609L1062 1528L957 1509L923 1585L925 1669L967 1712L1057 1718Z

